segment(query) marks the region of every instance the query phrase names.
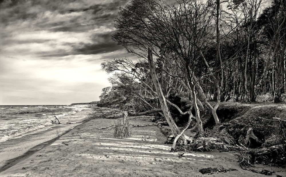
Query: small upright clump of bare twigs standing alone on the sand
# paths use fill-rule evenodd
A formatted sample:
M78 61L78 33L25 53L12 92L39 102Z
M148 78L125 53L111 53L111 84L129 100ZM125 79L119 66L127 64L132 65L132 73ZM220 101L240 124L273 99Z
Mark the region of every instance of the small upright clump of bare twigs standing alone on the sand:
M116 138L124 139L124 138L130 138L132 136L132 129L129 124L127 111L124 112L124 116L114 121L113 130L114 130L113 135Z

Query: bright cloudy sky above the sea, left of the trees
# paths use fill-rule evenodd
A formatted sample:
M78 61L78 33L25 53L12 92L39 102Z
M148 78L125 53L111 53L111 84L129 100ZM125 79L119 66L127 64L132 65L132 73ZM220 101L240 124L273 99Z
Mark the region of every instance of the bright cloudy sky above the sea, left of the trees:
M98 100L104 60L125 57L110 39L128 0L0 0L0 105Z

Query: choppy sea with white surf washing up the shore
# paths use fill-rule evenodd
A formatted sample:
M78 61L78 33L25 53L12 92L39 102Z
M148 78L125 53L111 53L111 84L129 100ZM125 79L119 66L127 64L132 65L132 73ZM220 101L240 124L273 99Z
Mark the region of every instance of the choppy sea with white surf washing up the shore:
M88 105L0 105L0 168L81 124L91 111Z

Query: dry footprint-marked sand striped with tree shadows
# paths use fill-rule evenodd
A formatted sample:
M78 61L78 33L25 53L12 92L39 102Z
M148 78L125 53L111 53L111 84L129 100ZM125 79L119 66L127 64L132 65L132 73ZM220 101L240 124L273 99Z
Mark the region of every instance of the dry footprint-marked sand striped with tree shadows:
M148 124L132 120L133 124ZM113 124L93 119L76 126L48 146L0 173L0 176L264 176L242 170L237 157L227 152L170 152L166 137L156 126L134 127L128 139L113 137L112 130L92 129ZM92 130L91 130L92 129ZM202 174L202 168L223 166L226 173ZM286 169L261 166L285 176ZM274 175L276 176L276 175Z

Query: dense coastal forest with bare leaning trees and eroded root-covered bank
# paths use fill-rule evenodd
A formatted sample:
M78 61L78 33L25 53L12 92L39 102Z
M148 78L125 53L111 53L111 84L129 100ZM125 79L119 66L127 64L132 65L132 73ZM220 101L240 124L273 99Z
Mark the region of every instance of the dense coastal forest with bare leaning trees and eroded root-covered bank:
M286 164L285 20L285 0L131 0L112 39L137 59L101 63L111 87L91 117L149 118L132 126L158 126L172 151Z

